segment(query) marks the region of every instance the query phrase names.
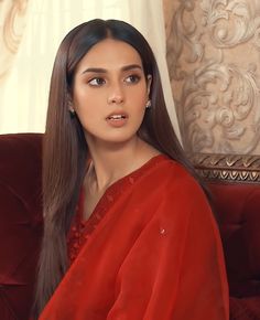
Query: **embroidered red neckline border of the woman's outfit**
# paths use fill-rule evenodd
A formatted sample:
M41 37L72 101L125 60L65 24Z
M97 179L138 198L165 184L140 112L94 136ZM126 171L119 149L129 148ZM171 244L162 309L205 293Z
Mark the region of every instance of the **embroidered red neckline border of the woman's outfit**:
M113 182L105 191L88 220L83 220L84 190L82 190L75 217L67 236L68 258L71 264L77 257L83 245L106 215L108 206L120 196L128 185L134 184L137 180L140 179L151 167L161 163L163 159L165 160L167 157L161 153L154 156L137 170Z

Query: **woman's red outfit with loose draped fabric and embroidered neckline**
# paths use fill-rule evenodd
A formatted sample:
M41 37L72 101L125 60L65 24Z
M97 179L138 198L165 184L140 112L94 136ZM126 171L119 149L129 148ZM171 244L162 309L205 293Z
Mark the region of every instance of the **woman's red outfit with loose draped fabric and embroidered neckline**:
M87 222L79 215L41 320L228 319L218 228L182 166L156 156L108 188Z

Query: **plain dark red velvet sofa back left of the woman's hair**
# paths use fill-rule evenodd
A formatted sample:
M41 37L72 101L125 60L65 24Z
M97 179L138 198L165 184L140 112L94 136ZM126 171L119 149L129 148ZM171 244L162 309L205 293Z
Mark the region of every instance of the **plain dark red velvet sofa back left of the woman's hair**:
M0 135L0 319L28 320L42 238L41 134Z

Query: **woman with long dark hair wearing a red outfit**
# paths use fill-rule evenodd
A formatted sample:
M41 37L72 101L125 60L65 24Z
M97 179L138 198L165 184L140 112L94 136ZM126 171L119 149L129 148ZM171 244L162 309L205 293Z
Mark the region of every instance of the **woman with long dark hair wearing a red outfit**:
M93 20L62 42L43 164L41 320L224 320L216 223L144 38Z

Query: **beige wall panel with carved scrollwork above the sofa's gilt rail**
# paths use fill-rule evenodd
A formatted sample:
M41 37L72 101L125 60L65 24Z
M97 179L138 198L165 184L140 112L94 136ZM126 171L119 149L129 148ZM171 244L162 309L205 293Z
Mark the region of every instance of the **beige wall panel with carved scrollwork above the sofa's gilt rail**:
M164 0L164 13L184 148L260 154L260 1Z

